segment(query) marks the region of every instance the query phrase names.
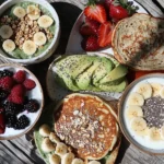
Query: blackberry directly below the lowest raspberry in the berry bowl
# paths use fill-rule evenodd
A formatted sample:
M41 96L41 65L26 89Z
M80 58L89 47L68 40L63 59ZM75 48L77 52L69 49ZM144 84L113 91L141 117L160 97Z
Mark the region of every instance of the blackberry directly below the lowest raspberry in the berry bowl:
M12 115L16 115L19 113L21 113L23 106L22 105L17 105L17 104L14 104L12 102L5 102L5 104L3 104L3 107L5 109L5 114L12 114Z

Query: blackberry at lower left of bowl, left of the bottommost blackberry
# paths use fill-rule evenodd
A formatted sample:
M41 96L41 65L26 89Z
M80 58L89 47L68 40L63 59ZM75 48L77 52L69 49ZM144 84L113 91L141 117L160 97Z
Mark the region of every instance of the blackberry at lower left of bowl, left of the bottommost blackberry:
M5 126L8 128L13 128L17 122L16 115L5 114Z

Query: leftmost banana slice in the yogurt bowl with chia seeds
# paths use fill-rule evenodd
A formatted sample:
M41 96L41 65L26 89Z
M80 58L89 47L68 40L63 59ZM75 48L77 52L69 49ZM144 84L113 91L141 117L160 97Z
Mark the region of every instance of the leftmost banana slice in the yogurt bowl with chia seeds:
M127 108L127 117L129 120L134 117L143 117L143 110L140 106L130 105Z

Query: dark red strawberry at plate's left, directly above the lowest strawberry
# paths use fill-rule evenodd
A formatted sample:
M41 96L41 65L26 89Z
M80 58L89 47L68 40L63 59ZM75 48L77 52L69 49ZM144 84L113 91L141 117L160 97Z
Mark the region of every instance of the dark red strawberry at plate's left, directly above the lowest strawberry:
M98 27L98 22L85 17L84 24L82 24L80 27L80 34L82 36L97 35Z

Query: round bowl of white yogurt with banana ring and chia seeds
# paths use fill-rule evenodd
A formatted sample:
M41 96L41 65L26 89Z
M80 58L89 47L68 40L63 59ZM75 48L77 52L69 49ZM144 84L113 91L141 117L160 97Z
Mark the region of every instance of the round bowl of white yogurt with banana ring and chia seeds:
M138 149L164 154L164 74L134 80L119 101L119 125Z

